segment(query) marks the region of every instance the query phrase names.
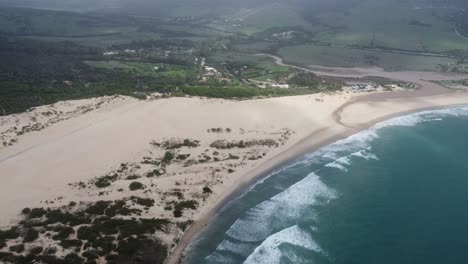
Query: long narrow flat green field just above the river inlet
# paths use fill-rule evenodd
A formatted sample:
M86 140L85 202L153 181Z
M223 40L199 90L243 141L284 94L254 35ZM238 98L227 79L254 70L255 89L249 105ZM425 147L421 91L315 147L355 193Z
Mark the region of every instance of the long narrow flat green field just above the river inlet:
M366 51L315 45L299 45L279 49L285 60L301 65L327 67L378 66L388 71L439 70L439 65L455 63L454 59L390 52Z

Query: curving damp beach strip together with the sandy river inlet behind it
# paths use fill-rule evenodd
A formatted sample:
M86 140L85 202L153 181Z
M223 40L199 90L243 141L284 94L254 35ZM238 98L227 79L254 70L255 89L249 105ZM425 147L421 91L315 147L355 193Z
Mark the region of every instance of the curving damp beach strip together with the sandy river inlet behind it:
M467 78L463 74L441 74L434 72L385 72L380 68L329 68L311 65L308 68L287 64L282 58L270 54L257 54L258 56L269 56L278 65L289 66L300 70L306 70L318 75L331 77L363 78L367 76L378 76L392 80L406 81L416 84L419 89L415 91L398 91L391 93L372 93L359 95L351 98L336 108L332 117L336 126L342 131L333 131L329 135L317 139L312 133L293 145L288 150L279 153L274 158L265 161L255 170L245 175L243 181L226 194L221 202L214 204L209 213L197 221L187 230L179 242L177 248L167 260L167 264L181 263L184 250L190 245L194 237L199 234L210 222L210 219L236 194L241 193L257 180L268 175L274 168L311 153L319 148L325 147L339 139L346 138L360 131L366 130L375 124L387 119L408 115L420 111L444 108L468 104L468 94L454 92L431 82L430 80L450 80Z

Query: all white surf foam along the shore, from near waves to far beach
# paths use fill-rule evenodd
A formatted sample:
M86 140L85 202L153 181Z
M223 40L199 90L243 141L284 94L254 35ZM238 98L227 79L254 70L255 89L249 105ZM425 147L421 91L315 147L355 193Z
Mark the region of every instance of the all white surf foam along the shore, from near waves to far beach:
M351 157L359 157L365 160L379 160L372 153L370 143L379 138L379 133L382 129L395 126L414 126L422 122L438 122L443 120L444 117L467 115L468 107L455 107L392 118L378 123L366 131L339 140L305 155L302 160L281 168L266 178L282 173L295 166L304 167L311 164L326 164L326 167L347 171L347 166L351 164ZM266 178L257 182L257 184L263 183ZM252 186L252 188L256 185ZM326 199L318 199L319 197L325 197ZM309 245L310 248L313 248L312 250L319 251L320 247L313 240L307 240L304 237L304 232L298 232L297 227L291 229L292 231L284 228L285 226L293 225L298 217L307 216L313 219L315 217L313 205L317 205L321 200L330 200L334 197L336 197L335 191L328 188L315 173L311 173L287 190L253 207L242 218L238 219L230 227L227 235L241 242L233 245L232 241L229 241L231 239L223 241L209 257L213 260L210 263L229 263L230 257L226 256L227 259L221 258L224 255L223 251L227 250L233 254L240 254L240 251L244 250L244 245L251 247L252 242L259 243L263 241L255 249L254 253L247 258L245 263L279 263L282 255L280 249L278 249L278 245L281 243L290 243L306 248ZM278 232L278 230L283 231ZM274 232L278 233L271 235ZM304 241L308 241L307 243L309 244ZM243 252L251 252L251 250L244 250Z

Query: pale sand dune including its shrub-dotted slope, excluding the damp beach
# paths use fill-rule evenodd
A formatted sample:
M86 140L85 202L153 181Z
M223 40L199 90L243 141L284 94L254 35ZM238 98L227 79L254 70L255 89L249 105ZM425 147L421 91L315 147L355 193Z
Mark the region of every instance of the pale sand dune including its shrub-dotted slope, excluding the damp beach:
M172 250L182 226L207 215L265 160L275 165L280 153L310 133L319 140L340 130L331 113L349 99L345 93L249 101L117 97L94 107L101 100L95 98L1 117L0 133L16 140L0 149L0 226L23 220L26 207L74 213L101 200L123 200L138 210L136 219L171 221L165 233L154 235ZM92 107L74 115L83 105ZM62 113L60 121L51 122L56 116L49 112ZM166 159L168 152L173 158ZM132 181L144 189L131 190ZM154 205L132 205L135 196ZM182 205L190 208L177 211ZM56 245L47 234L27 248Z

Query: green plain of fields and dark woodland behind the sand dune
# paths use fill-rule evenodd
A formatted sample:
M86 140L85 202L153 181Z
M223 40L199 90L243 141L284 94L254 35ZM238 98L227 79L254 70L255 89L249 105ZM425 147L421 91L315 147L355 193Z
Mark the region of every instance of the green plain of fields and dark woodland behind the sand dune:
M250 98L337 89L333 81L318 89L314 76L258 53L298 65L467 71L466 12L410 1L348 1L340 9L332 2L265 1L216 12L191 4L154 16L0 8L0 110L116 93ZM309 87L259 90L297 84Z

